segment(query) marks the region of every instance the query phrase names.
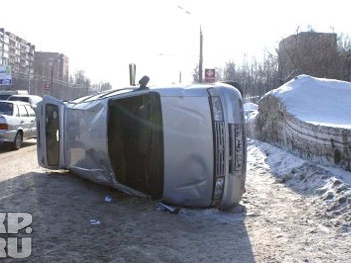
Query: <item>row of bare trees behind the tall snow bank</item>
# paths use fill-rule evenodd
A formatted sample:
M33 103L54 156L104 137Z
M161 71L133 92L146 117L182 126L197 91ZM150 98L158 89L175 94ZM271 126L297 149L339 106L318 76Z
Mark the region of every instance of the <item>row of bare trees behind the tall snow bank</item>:
M251 97L254 102L266 92L283 85L284 82L299 74L350 81L350 37L344 34L338 35L335 46L330 47L335 48L334 52L326 49L325 42L315 41L309 46L290 47L287 52L289 56L283 56L282 50L276 50L274 54L265 50L261 61L257 61L255 57L249 59L245 56L242 63L229 61L223 68L216 67L216 81L231 80L240 83L244 97ZM282 44L279 49L282 49ZM301 54L304 54L304 57ZM323 61L323 65L320 61ZM284 63L290 63L288 73L285 74L282 73ZM333 75L335 70L338 72ZM193 81L198 82L198 66L193 71Z

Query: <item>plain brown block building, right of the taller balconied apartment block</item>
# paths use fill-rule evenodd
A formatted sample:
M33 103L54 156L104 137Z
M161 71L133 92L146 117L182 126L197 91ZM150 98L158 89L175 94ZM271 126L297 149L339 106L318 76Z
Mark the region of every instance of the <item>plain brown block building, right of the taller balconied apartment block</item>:
M35 52L34 75L36 94L61 97L63 87L68 86L68 57L57 52Z

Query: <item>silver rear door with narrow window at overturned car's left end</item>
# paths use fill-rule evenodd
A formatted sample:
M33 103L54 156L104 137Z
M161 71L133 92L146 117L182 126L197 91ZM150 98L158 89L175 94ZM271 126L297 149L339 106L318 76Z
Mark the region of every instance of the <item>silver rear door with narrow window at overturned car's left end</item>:
M65 104L45 96L37 106L37 154L40 166L64 169Z

